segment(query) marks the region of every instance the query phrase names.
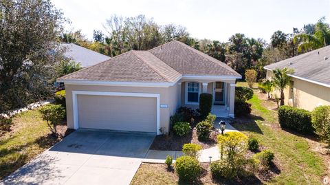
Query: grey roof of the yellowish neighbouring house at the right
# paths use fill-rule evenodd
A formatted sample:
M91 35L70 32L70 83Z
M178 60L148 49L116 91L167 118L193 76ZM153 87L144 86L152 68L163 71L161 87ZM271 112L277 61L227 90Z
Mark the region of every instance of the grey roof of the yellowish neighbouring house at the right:
M305 54L272 63L264 68L273 70L288 67L294 69L294 78L330 87L330 45Z

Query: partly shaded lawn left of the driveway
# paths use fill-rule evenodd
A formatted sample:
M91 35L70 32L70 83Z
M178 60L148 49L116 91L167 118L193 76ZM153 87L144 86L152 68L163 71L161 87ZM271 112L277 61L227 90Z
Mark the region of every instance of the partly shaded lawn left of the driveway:
M66 127L65 127L66 128ZM37 109L17 114L12 131L0 138L0 179L50 148L59 138L50 135ZM65 129L61 128L61 132Z

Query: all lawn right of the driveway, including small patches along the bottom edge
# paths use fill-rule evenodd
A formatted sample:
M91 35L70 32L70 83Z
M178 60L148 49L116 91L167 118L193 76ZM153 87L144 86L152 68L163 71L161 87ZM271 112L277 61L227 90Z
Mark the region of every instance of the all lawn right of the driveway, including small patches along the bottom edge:
M252 104L252 116L237 119L233 126L246 135L258 138L262 149L273 151L278 168L278 175L268 181L261 180L260 184L322 184L327 171L325 161L311 150L306 138L279 127L277 111L267 106L273 103L273 107L277 107L274 105L276 103L261 100L258 95L254 95L249 102ZM178 184L178 178L175 173L166 171L164 164L142 164L131 184ZM213 182L210 175L205 175L201 184L228 183Z

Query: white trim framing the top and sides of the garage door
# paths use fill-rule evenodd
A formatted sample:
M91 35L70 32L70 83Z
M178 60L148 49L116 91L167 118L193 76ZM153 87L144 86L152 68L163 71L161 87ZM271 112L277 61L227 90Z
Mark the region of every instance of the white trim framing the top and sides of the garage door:
M157 102L157 135L159 135L160 129L160 94L148 94L148 93L126 93L126 92L108 92L108 91L72 91L72 105L73 105L73 116L74 116L74 129L79 129L78 119L78 95L98 95L98 96L130 96L130 97L146 97L156 98Z

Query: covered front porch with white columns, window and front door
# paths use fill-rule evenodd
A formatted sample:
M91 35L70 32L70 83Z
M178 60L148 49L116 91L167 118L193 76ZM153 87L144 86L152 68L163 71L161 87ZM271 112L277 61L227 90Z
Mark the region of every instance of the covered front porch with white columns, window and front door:
M220 118L234 118L235 80L184 79L180 98L182 107L199 108L199 95L212 94L211 113Z

